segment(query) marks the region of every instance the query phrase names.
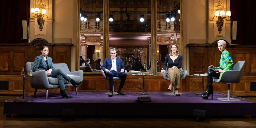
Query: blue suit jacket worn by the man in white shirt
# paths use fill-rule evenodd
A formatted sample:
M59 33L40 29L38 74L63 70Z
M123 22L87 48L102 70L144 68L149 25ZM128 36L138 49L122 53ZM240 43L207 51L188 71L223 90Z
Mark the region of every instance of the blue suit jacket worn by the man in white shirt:
M116 62L117 62L117 72L120 72L121 69L125 70L124 63L120 58L116 58ZM105 71L105 69L110 70L111 67L112 67L111 58L106 58L101 69Z

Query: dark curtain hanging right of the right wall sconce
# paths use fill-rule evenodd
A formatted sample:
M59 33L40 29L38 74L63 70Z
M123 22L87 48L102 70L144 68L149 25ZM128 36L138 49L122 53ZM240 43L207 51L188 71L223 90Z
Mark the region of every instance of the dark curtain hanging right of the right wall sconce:
M230 1L231 21L237 21L237 36L231 40L232 44L256 45L255 6L255 0Z

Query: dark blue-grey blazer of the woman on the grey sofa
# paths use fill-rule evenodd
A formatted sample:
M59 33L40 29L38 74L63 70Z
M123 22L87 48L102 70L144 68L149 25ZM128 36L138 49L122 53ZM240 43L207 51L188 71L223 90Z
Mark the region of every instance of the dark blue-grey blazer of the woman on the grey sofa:
M46 56L46 58L47 58L49 68L54 70L52 58L48 56ZM47 65L43 55L37 56L34 62L33 72L39 71L39 70L45 70L45 71L47 70Z

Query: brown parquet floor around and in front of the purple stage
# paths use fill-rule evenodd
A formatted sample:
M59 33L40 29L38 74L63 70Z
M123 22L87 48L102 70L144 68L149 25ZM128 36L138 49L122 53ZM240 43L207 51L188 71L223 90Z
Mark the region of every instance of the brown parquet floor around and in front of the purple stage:
M3 115L3 102L15 97L17 96L0 96L0 113L2 113L0 114L0 127L256 127L256 118L251 118L251 116L207 116L205 121L194 120L192 116L76 116L75 119L71 121L63 121L61 116L56 115L12 115L11 118L7 118L6 115ZM256 101L256 96L247 96L244 98ZM166 110L166 112L168 111L171 112L172 110Z

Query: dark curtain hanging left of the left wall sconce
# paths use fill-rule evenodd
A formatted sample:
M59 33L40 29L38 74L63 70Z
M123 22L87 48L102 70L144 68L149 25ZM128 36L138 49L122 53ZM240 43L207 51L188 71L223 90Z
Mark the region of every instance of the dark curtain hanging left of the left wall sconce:
M29 23L30 0L1 0L0 11L0 43L28 43L22 21Z

